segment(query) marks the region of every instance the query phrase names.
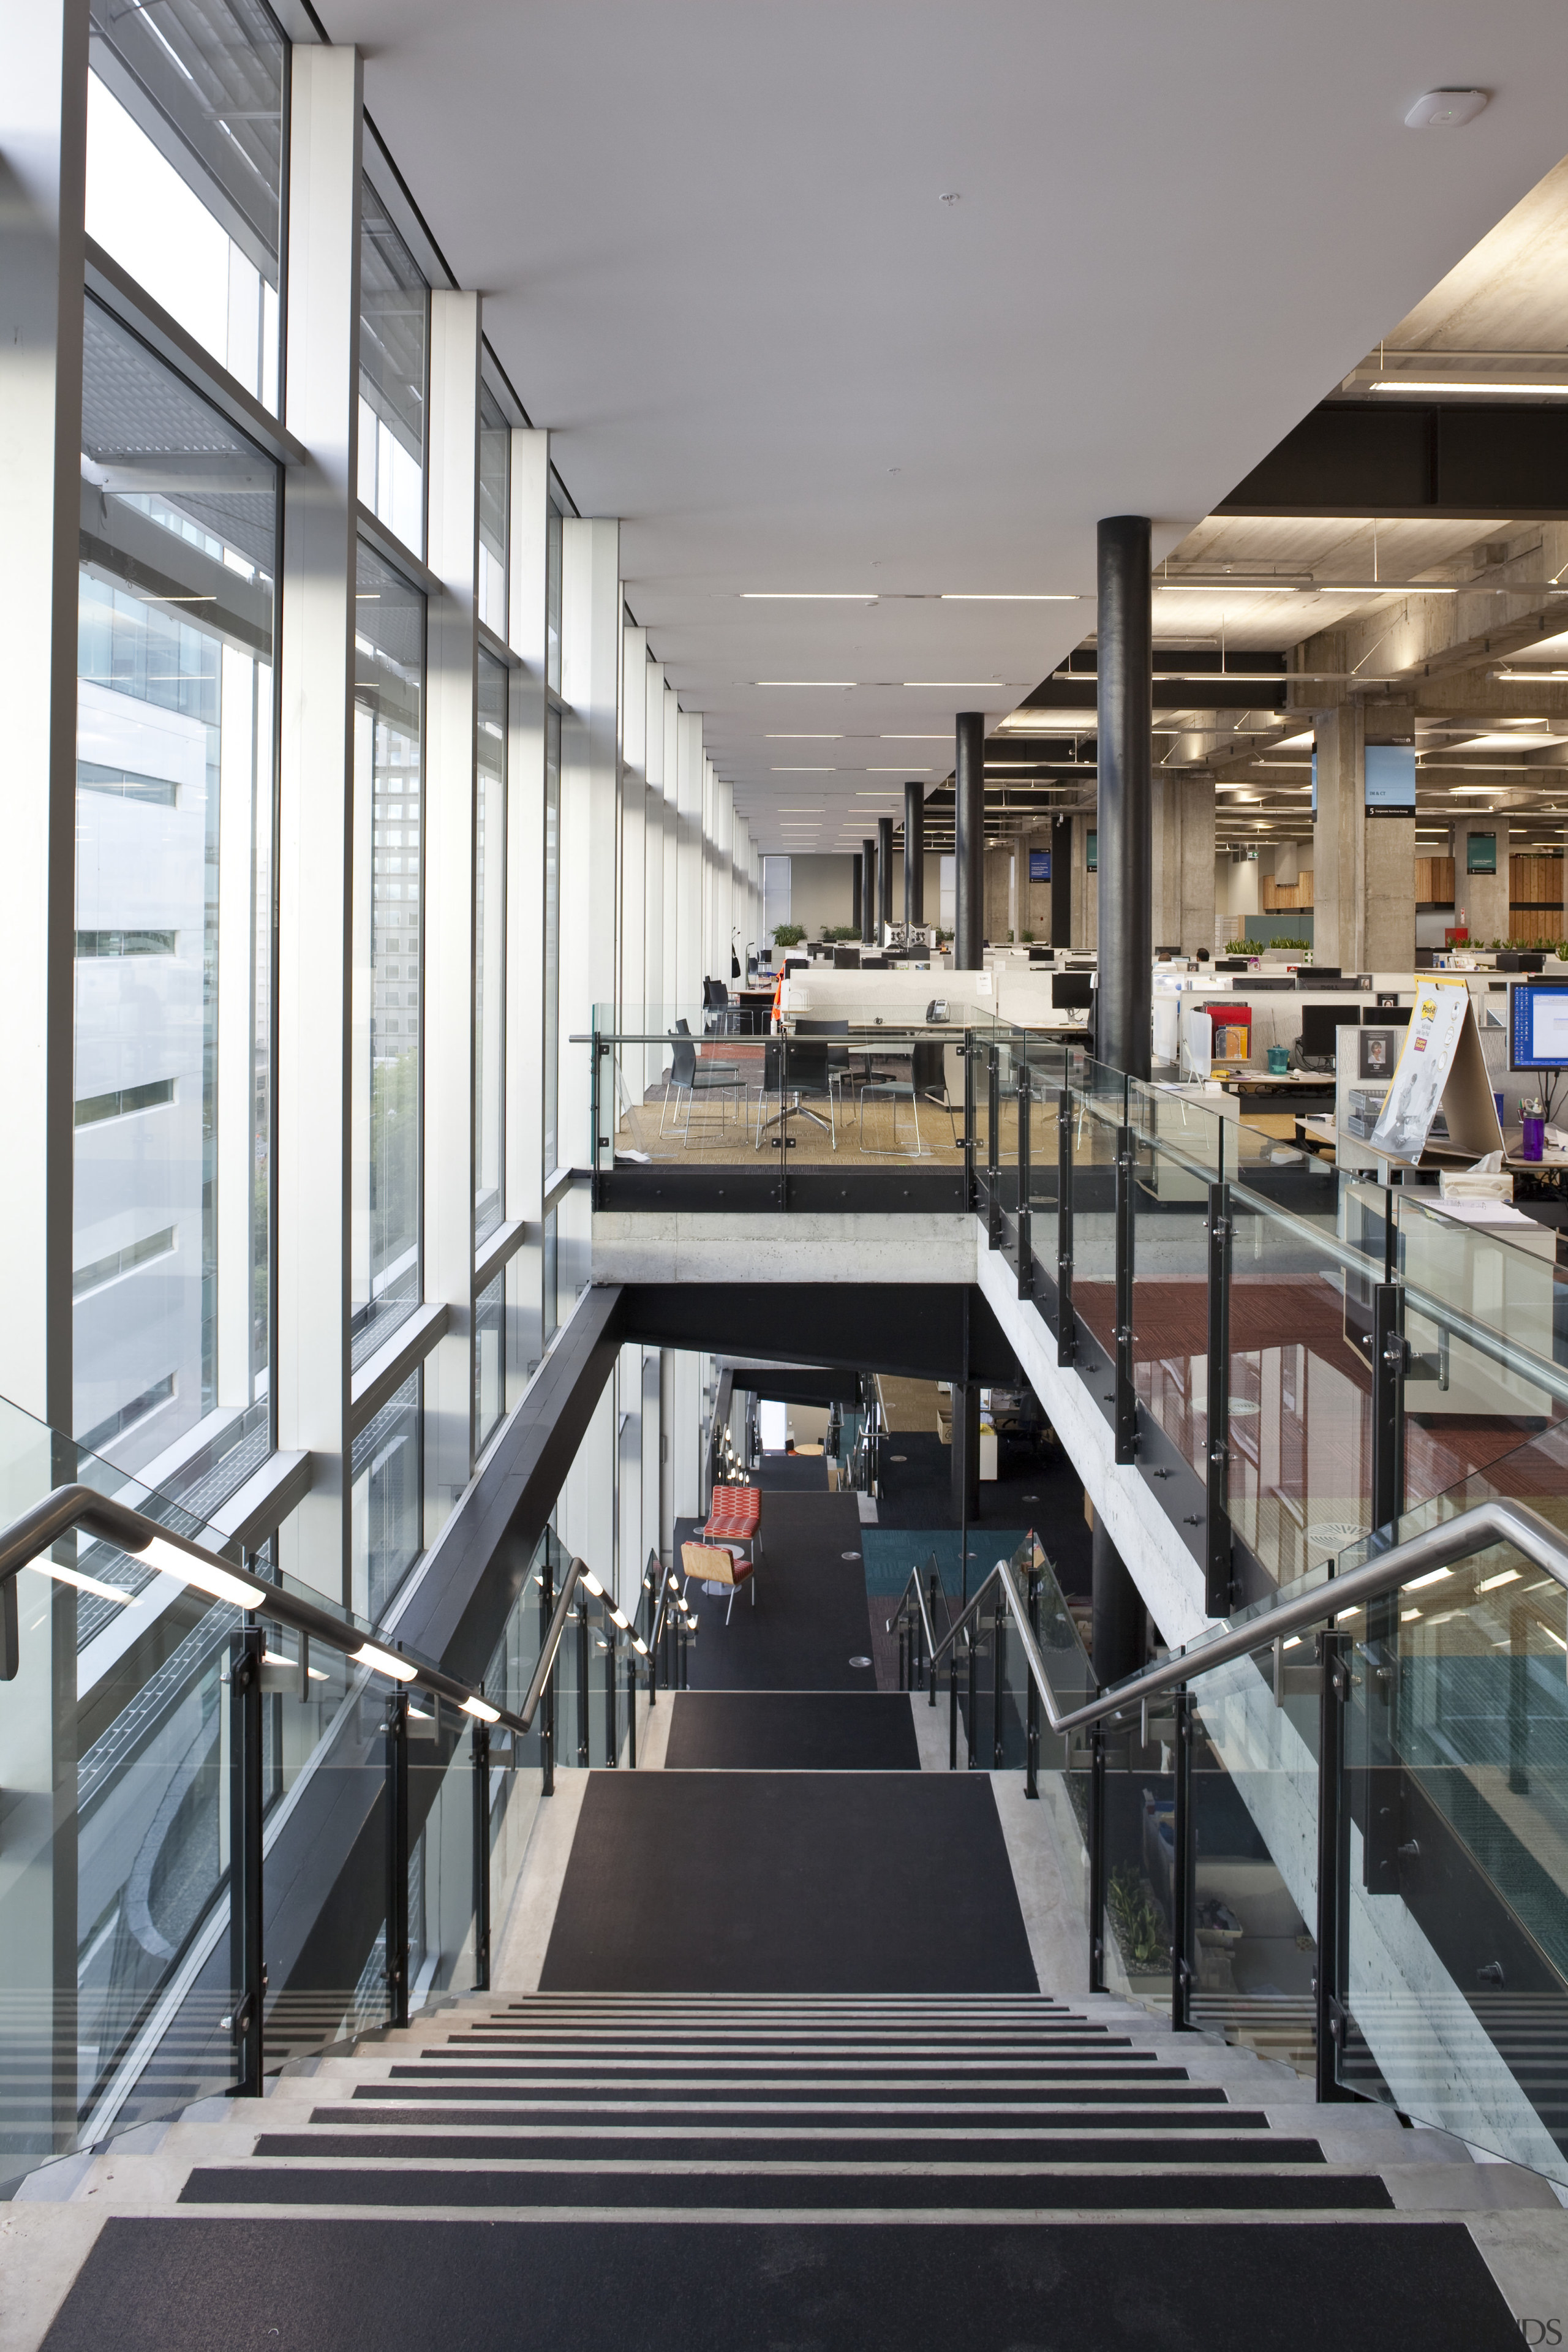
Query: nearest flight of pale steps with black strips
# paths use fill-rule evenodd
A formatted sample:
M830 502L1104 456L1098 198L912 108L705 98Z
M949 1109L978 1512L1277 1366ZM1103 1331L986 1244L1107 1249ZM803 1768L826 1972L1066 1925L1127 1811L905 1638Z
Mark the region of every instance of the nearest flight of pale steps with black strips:
M1208 2037L1140 2032L1041 1994L583 1994L463 2004L350 2058L306 2060L96 2159L190 2211L952 2220L1371 2216L1521 2201L1542 2183L1314 2107L1307 2084ZM1159 2044L1159 2046L1157 2046ZM205 2103L202 2117L216 2103ZM155 2145L155 2154L153 2154ZM172 2161L183 2159L183 2161ZM1410 2194L1410 2176L1418 2192ZM1422 2178L1425 2176L1425 2178ZM1476 2197L1476 2187L1486 2194ZM1549 2192L1547 2192L1549 2194Z

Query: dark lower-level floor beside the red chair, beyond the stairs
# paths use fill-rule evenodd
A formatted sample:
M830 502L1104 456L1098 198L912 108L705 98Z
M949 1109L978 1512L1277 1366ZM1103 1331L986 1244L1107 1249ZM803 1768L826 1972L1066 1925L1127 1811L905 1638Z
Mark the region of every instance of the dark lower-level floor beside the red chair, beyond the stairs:
M677 1522L675 1534L679 1545L691 1526ZM689 1658L696 1691L877 1689L853 1494L766 1494L755 1604L741 1590L731 1611L729 1592L703 1592L696 1581L691 1599L701 1628Z

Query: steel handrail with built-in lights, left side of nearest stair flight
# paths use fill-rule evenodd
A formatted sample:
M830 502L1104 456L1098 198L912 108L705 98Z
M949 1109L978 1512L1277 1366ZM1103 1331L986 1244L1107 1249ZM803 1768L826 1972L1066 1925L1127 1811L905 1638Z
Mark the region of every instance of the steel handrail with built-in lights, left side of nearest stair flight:
M343 1625L329 1609L317 1609L313 1602L284 1592L282 1585L268 1585L266 1578L252 1576L249 1569L237 1569L228 1559L219 1559L216 1552L202 1550L200 1543L176 1536L172 1529L160 1526L158 1519L148 1519L146 1512L132 1510L129 1503L118 1503L108 1494L96 1494L92 1486L56 1486L33 1510L26 1510L7 1529L0 1529L0 1682L14 1682L21 1665L16 1573L75 1529L94 1536L99 1543L113 1543L115 1550L132 1557L153 1552L153 1564L162 1573L183 1576L197 1592L273 1618L277 1625L289 1625L308 1642L336 1649L357 1665L369 1665L383 1675L390 1672L393 1682L418 1684L437 1698L449 1698L477 1722L505 1724L508 1731L529 1729L522 1717L508 1708L494 1708L482 1691L473 1691L465 1682L442 1675L437 1665L414 1661L395 1644L376 1642L360 1625ZM393 1672L383 1661L402 1668L402 1672Z

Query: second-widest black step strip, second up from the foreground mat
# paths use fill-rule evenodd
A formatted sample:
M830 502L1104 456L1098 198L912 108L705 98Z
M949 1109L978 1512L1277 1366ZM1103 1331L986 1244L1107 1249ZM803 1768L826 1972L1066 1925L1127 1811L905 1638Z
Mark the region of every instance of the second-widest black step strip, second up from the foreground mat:
M1041 2164L1079 2164L1086 2152L1093 2152L1098 2164L1324 2164L1324 2150L1316 2140L1305 2138L1232 2138L1227 2133L1215 2133L1213 2138L1192 2136L1180 2140L1180 2150L1173 2140L1140 2138L1135 2133L1095 2133L1095 2136L1070 2136L1070 2133L1034 2133L1018 2138L997 2138L990 2143L964 2140L952 2143L936 2138L931 2133L905 2133L884 2143L882 2138L865 2136L842 2136L842 2138L802 2138L780 2145L790 2147L790 2157L773 2159L771 2147L757 2150L755 2157L745 2154L745 2143L726 2140L719 2136L703 2138L693 2133L672 2143L665 2133L644 2136L616 2136L609 2143L604 2136L590 2136L599 2140L599 2150L592 2161L611 2166L607 2147L614 2145L614 2161L635 2164L642 2169L668 2169L670 2164L745 2164L748 2171L757 2169L783 2169L788 2166L832 2166L865 2161L872 2169L903 2169L907 2164L924 2164L947 2171L964 2164L1006 2164L1006 2166L1041 2166ZM867 2154L856 2159L849 2154L851 2147L865 2147ZM966 2157L959 2159L959 2145ZM994 2154L978 2154L980 2147L997 2150ZM672 2154L679 2147L679 2157ZM914 2150L929 2147L931 2154L914 2154ZM263 2131L256 2136L254 2161L266 2164L268 2159L306 2159L315 2164L324 2161L388 2161L388 2164L421 2164L430 2166L473 2166L473 2164L512 2164L517 2171L527 2171L536 2164L559 2164L571 2169L590 2154L590 2140L538 2133L531 2136L527 2150L520 2145L515 2133L465 2133L456 2138L454 2133L331 2133L331 2131Z

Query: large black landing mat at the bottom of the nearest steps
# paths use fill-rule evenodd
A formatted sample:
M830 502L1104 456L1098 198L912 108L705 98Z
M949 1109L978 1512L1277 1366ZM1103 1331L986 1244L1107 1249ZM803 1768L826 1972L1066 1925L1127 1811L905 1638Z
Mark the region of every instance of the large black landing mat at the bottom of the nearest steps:
M592 1773L543 1992L1037 1992L983 1773Z

